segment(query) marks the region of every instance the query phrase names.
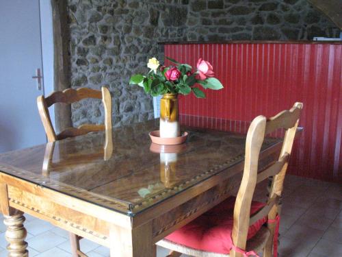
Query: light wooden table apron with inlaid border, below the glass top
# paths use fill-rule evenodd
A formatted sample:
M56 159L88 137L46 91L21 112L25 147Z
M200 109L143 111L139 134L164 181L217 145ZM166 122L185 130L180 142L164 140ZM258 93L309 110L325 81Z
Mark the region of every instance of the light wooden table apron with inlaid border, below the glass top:
M264 163L279 151L280 143L263 151ZM133 216L1 172L1 212L12 215L20 210L49 221L109 247L111 256L153 257L154 243L236 191L242 171L240 162Z

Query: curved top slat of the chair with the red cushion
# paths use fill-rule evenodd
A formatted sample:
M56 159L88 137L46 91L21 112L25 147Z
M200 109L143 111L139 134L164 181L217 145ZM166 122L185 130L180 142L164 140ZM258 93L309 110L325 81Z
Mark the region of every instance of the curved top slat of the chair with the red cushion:
M293 127L300 118L302 103L295 103L291 110L284 110L276 116L267 119L265 134L269 134L278 129L289 129Z

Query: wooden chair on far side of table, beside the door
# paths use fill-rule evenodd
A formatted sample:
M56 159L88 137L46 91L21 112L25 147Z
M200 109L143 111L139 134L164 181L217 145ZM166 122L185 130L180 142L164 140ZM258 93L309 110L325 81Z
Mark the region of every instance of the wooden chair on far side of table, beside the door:
M51 118L49 114L48 108L52 106L54 103L74 103L75 101L80 101L85 98L95 98L102 99L103 106L105 109L105 124L104 125L93 125L93 124L83 124L79 127L68 127L66 130L60 132L60 134L56 134L53 129L53 125L51 123ZM47 161L43 164L43 175L48 173L49 162L51 160L51 156L53 153L53 143L56 140L61 140L64 138L69 138L73 136L80 136L83 134L88 134L89 132L96 131L105 131L105 160L111 156L113 151L113 145L111 140L111 95L109 90L105 87L101 88L101 91L94 90L91 88L79 88L75 89L66 89L63 92L53 92L48 97L44 97L43 95L37 98L37 106L40 114L40 119L42 119L42 123L44 125L44 130L47 133L47 138L49 140L48 150L46 152ZM79 247L79 240L81 236L77 236L77 234L70 233L70 243L71 249L74 257L84 257L86 254L81 252Z

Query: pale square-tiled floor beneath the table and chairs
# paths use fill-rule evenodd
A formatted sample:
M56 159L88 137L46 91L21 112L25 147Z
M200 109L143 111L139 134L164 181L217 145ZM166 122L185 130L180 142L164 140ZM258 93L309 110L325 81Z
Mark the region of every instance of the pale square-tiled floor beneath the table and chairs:
M265 199L265 188L265 183L257 186L255 199ZM284 188L280 257L342 256L342 184L287 175ZM67 232L29 215L26 218L30 257L71 256ZM5 225L0 222L0 257L7 256L6 245ZM109 249L86 239L81 240L81 249L89 257L109 256ZM161 247L157 250L158 257L168 253Z

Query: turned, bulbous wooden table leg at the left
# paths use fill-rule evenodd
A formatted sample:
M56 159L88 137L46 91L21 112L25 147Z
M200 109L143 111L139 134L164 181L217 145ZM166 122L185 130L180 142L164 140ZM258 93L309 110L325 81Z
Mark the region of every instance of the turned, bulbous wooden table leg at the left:
M29 252L27 251L27 243L25 237L27 232L24 228L25 217L23 212L16 212L15 215L7 216L4 215L7 230L5 232L6 240L8 241L8 257L28 257Z

